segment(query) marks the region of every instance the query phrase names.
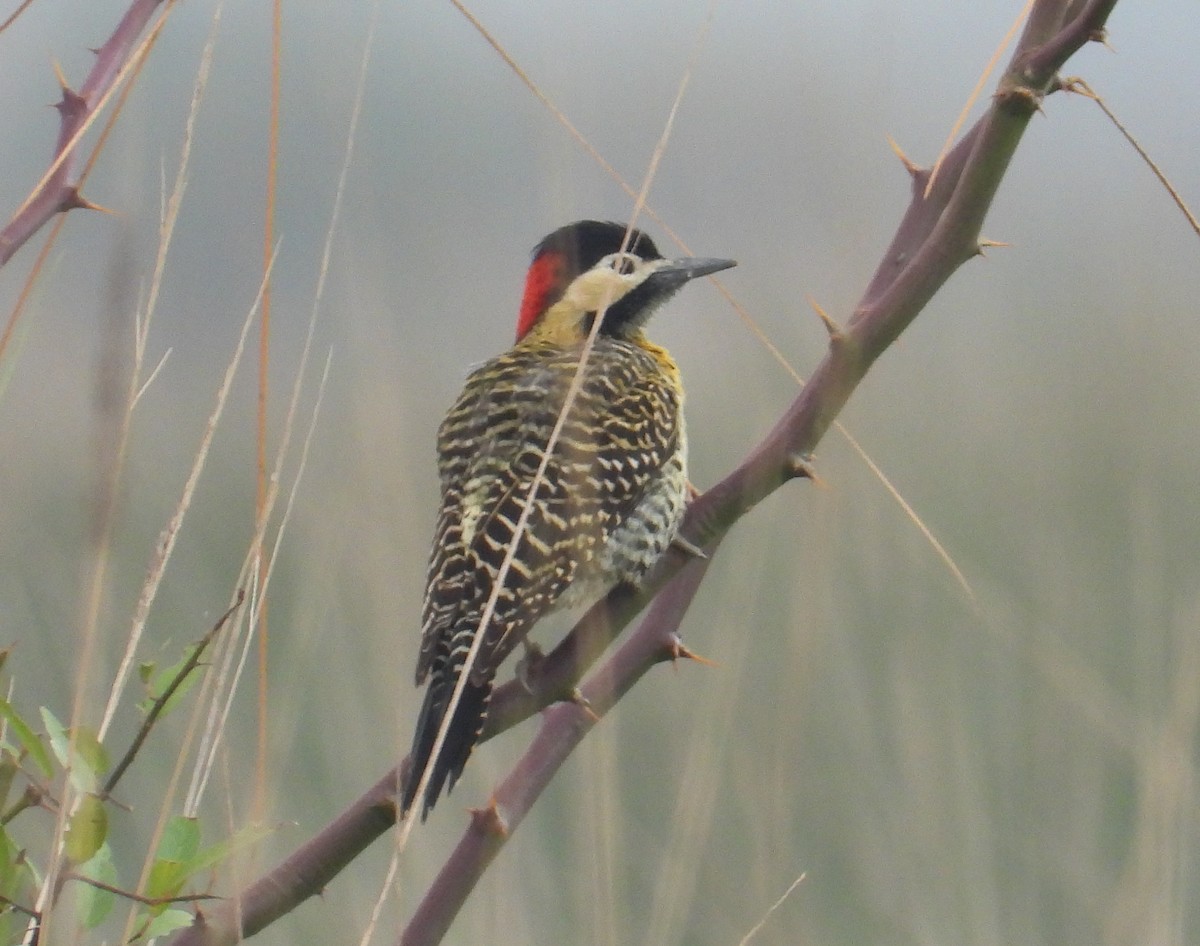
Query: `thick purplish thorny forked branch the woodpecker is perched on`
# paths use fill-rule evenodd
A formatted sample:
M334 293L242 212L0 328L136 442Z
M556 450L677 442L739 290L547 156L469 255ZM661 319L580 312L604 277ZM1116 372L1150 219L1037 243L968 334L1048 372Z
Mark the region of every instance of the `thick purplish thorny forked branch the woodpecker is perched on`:
M472 818L403 933L403 946L440 941L475 881L596 720L652 666L688 655L676 633L721 539L770 492L810 474L809 456L875 359L949 276L979 253L984 216L1025 127L1044 96L1057 88L1057 71L1067 59L1103 38L1115 6L1116 0L1038 0L991 107L946 156L928 194L930 172L910 166L912 200L846 327L827 325L829 349L798 397L746 460L689 508L683 532L709 559L689 559L672 550L636 594L614 591L536 663L523 683L512 681L497 690L484 740L551 703L562 705L544 714L541 729L497 788L493 802ZM582 676L650 599L654 606L638 629L577 691ZM395 792L406 766L407 760L235 898L209 915L198 912L175 945L233 944L319 893L395 822Z

